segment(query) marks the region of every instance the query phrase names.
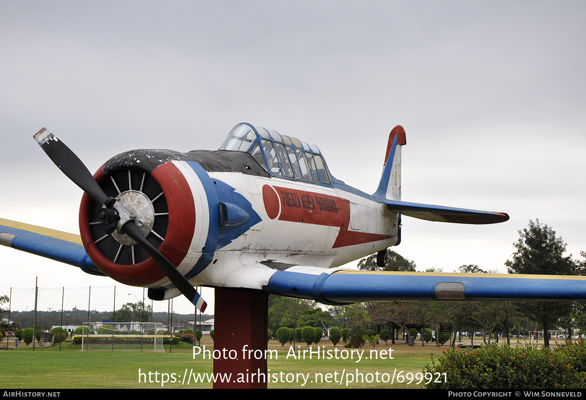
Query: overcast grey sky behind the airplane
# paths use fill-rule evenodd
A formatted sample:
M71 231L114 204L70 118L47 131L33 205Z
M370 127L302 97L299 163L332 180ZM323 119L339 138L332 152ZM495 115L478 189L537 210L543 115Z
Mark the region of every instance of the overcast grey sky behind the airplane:
M580 258L584 26L583 1L3 0L0 217L79 233L81 190L32 139L42 127L94 172L134 148L217 149L246 121L314 143L332 175L373 193L400 124L403 200L510 215L404 217L394 250L418 269L504 271L535 218ZM35 276L42 288L115 285L9 248L0 262L0 295ZM117 286L117 307L129 292Z

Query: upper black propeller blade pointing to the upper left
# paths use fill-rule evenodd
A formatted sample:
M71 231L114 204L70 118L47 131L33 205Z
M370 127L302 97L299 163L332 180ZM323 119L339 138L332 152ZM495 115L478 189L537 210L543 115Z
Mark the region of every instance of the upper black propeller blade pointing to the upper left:
M105 203L108 196L106 196L84 163L81 162L65 143L57 139L57 136L54 136L46 128L41 129L33 135L33 138L35 138L47 156L49 156L55 165L73 183L86 192L96 203L100 205Z

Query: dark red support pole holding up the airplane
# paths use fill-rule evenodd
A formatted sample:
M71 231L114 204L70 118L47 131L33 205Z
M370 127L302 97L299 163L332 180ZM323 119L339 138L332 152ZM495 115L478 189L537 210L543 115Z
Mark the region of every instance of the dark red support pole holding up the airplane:
M230 382L214 389L267 388L268 294L216 288L214 307L214 374L231 374ZM224 375L226 376L226 375Z

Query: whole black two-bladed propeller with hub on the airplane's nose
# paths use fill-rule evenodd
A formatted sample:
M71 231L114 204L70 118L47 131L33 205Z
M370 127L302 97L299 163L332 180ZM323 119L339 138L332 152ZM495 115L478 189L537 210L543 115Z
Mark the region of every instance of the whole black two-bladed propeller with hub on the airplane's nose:
M50 131L42 128L39 132L33 135L33 138L39 143L43 151L49 158L59 167L62 172L69 177L77 186L88 194L96 203L105 208L98 211L98 219L102 222L108 223L107 231L112 233L117 230L119 233L127 234L135 242L141 245L147 253L154 259L156 264L165 273L167 278L175 285L183 296L193 303L200 310L204 312L207 303L202 296L197 293L191 283L185 276L183 276L171 262L165 258L161 252L158 251L145 238L138 229L136 220L137 217L132 215L119 201L114 197L108 197L96 182L90 171L83 162L73 153L62 141L57 139Z

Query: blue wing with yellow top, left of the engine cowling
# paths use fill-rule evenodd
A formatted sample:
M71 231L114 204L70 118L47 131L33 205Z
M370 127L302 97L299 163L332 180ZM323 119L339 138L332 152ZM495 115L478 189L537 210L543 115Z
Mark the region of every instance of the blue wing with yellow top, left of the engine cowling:
M79 235L0 218L0 244L105 276L87 257Z

